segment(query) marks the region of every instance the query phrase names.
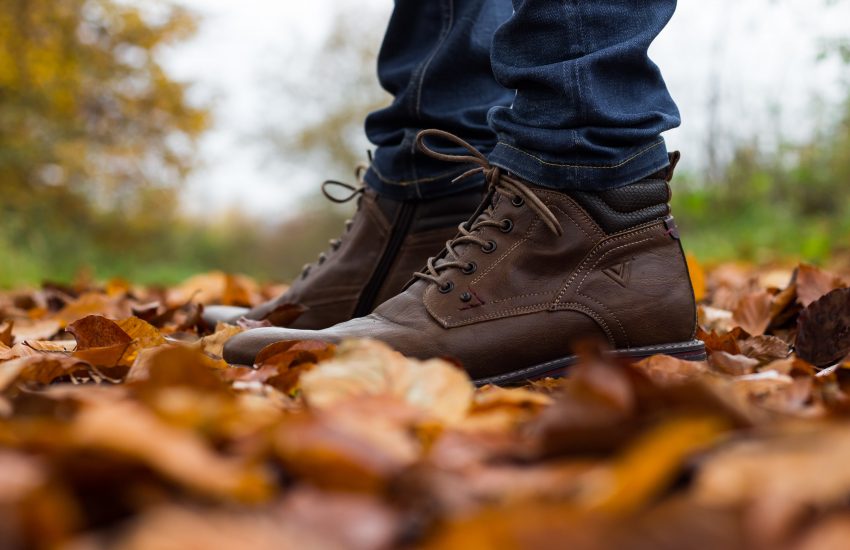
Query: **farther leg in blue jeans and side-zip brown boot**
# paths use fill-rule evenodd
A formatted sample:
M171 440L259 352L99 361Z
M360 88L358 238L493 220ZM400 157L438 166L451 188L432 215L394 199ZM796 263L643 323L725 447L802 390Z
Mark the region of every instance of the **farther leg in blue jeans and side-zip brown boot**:
M490 44L510 14L509 0L397 0L378 63L381 83L395 99L366 121L378 150L365 176L368 188L350 197L359 198L359 207L348 230L281 296L251 310L207 308L207 323L245 316L321 329L366 315L401 291L483 194L480 177L453 184L466 168L446 169L419 153L416 134L435 126L492 150L496 135L487 111L510 104L513 92L493 77Z

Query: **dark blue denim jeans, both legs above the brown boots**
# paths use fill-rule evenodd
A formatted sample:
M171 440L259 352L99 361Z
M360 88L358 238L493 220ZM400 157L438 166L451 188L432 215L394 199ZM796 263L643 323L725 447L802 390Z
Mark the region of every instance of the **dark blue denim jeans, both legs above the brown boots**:
M480 184L452 186L463 167L416 151L426 128L561 190L621 187L663 169L661 134L680 118L647 50L675 9L676 0L396 0L378 59L394 101L366 120L377 147L367 183L399 199Z

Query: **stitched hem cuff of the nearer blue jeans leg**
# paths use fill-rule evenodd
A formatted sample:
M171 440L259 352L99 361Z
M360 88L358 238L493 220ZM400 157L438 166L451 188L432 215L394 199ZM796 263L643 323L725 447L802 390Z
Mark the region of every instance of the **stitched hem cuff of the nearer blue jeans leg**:
M611 165L550 162L499 142L489 156L490 163L520 178L562 191L605 191L636 183L670 164L663 138L624 156Z

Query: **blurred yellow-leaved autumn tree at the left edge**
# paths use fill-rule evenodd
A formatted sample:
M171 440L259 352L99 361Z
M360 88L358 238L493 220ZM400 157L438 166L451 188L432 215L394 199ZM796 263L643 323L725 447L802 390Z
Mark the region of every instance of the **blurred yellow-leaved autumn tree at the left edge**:
M195 19L165 0L4 0L0 4L0 192L46 188L131 207L179 184L208 115L157 61ZM54 193L55 191L51 191ZM12 199L8 201L8 199Z

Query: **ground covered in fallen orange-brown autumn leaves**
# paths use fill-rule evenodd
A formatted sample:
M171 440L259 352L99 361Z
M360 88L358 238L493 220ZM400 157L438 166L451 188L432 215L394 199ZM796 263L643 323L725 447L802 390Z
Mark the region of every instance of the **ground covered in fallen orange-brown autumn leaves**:
M364 341L231 368L203 304L280 291L239 277L0 294L2 547L846 547L850 269L692 271L708 363L510 389Z

